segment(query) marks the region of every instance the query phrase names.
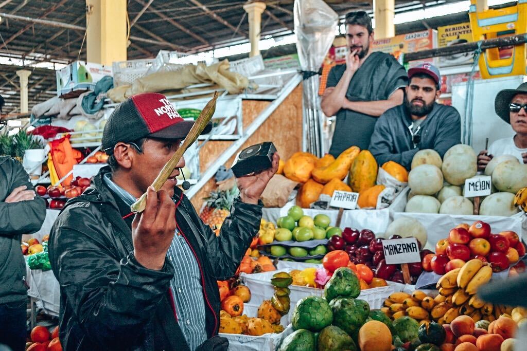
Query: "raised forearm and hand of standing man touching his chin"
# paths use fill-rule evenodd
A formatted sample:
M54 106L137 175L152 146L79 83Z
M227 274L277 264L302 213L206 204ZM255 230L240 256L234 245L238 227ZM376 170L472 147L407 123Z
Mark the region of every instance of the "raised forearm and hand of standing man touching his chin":
M322 95L320 107L328 117L334 116L339 109L344 107L346 101L346 92L348 91L349 82L360 66L360 59L356 56L357 51L346 56L346 71L338 81L335 87L328 87Z

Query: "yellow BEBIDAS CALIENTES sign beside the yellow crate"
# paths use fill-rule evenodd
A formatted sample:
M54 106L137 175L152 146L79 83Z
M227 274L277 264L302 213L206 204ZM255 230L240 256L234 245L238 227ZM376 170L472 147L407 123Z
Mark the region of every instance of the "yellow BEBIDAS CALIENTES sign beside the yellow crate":
M472 29L470 28L470 22L437 27L438 47L465 44L472 41ZM440 67L447 67L467 64L471 65L474 62L474 59L473 53L468 52L449 56L440 56L438 61Z

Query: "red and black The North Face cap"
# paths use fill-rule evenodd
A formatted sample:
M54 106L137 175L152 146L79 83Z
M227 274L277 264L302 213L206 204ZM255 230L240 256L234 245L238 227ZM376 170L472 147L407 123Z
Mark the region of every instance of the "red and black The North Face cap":
M194 125L185 121L167 97L159 93L142 93L129 97L112 112L102 133L102 149L113 154L114 146L144 137L183 139ZM202 134L211 131L209 123Z

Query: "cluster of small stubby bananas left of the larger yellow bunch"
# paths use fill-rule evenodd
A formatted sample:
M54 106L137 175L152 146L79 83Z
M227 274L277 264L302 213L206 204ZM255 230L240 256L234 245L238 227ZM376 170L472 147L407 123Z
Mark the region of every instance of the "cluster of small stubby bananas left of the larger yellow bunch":
M421 290L415 290L412 295L407 293L393 293L384 300L382 310L388 317L397 319L409 316L422 324L430 322L430 312L436 305L434 298L426 295Z

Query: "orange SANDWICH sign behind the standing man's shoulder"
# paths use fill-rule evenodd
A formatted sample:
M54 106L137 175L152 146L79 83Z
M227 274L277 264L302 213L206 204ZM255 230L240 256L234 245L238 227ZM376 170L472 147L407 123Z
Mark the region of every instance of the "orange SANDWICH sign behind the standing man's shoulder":
M372 52L381 51L393 55L399 63L403 64L404 55L417 51L429 50L437 47L437 31L428 29L423 32L396 35L392 38L378 39L372 44ZM435 58L425 58L405 64L405 67L416 66L421 63L436 64Z

